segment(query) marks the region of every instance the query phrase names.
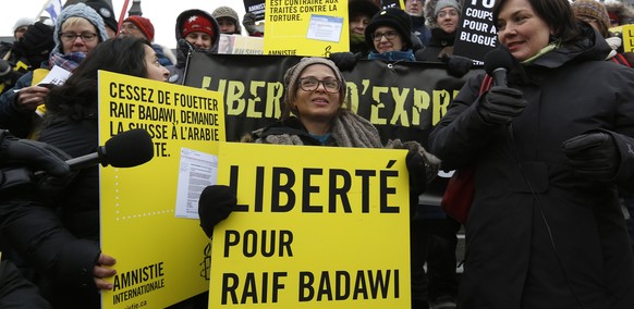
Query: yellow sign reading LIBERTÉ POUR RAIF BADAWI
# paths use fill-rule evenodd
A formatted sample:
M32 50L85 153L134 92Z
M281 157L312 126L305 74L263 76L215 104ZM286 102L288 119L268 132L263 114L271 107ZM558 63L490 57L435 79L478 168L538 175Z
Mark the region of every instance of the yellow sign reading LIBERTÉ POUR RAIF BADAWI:
M209 308L410 308L405 154L221 144Z

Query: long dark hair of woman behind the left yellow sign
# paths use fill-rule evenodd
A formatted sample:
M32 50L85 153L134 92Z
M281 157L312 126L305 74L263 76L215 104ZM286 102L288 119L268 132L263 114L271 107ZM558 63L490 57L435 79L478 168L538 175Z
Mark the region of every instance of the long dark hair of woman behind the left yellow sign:
M115 37L100 42L73 71L64 85L51 88L46 99L47 114L82 119L95 112L98 102L97 72L99 70L147 77L145 64L146 39Z

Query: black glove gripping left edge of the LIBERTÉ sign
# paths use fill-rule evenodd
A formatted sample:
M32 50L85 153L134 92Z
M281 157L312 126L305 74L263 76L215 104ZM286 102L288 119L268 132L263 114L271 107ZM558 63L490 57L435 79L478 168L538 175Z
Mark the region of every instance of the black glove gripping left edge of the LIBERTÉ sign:
M203 190L198 200L198 217L207 237L211 237L214 226L227 219L236 205L235 193L228 186L212 185Z

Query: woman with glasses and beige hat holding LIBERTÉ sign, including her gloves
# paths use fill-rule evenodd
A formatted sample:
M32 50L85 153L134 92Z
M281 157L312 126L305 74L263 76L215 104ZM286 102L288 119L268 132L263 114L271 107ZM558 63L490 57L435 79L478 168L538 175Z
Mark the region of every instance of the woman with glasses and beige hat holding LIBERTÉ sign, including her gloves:
M410 193L417 202L427 182L436 176L440 161L416 141L397 139L383 146L376 127L350 111L345 100L345 79L332 61L303 58L285 72L283 82L286 92L281 119L246 135L242 141L407 149ZM210 237L214 225L227 219L236 200L227 186L215 185L205 191L207 197L214 198L200 199L198 213L200 226Z

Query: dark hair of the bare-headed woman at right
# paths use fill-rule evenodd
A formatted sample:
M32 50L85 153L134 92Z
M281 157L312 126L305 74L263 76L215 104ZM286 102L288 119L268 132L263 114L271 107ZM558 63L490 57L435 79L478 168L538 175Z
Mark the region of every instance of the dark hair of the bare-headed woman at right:
M578 39L582 35L577 26L574 13L568 0L526 0L533 10L553 30L554 39L561 39L565 44ZM493 5L493 24L498 25L498 15L507 0L496 0Z

